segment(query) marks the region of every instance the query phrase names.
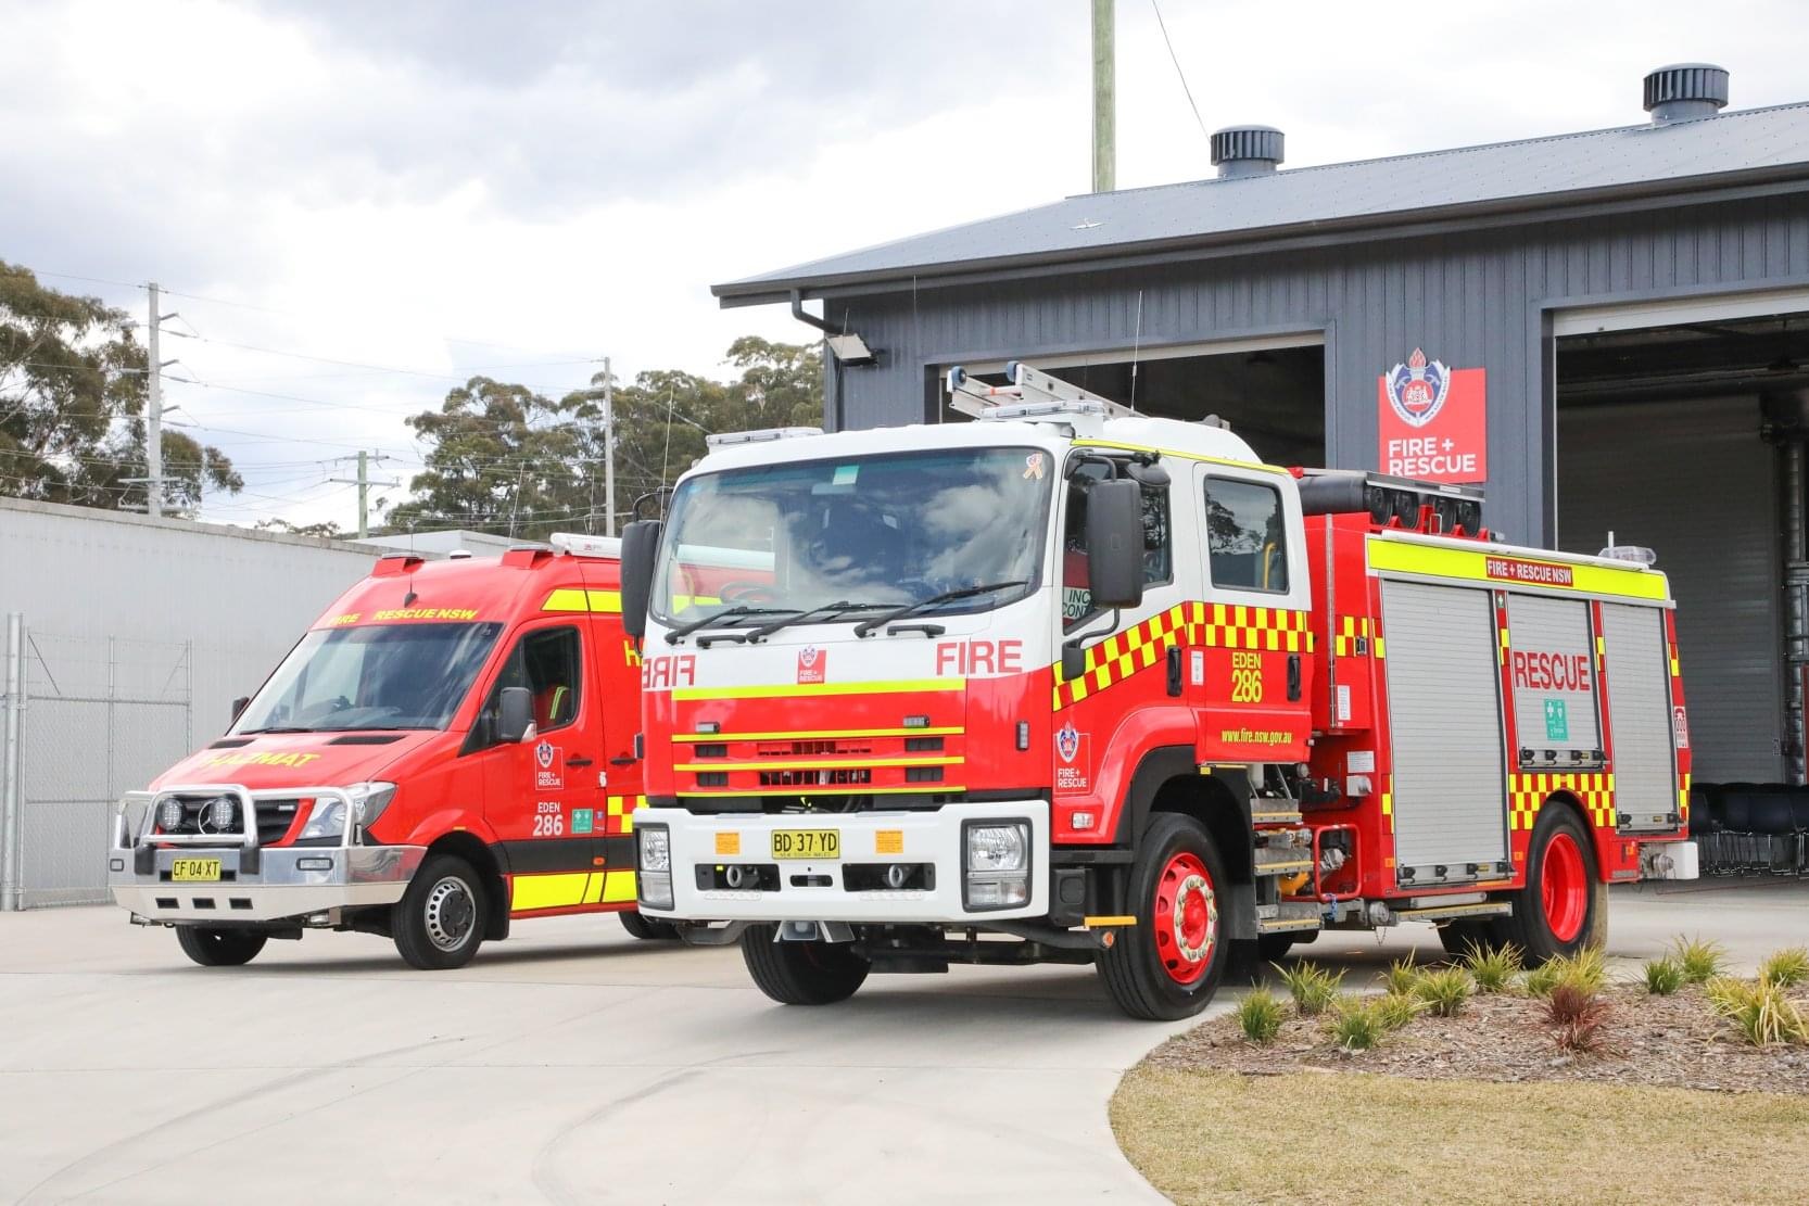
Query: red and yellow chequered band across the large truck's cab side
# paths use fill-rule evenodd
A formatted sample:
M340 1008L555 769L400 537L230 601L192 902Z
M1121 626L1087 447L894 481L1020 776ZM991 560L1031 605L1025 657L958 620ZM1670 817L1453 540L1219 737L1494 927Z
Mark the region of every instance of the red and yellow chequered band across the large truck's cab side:
M1176 644L1205 649L1312 653L1313 635L1306 629L1304 611L1207 602L1176 604L1087 649L1087 669L1073 682L1064 682L1062 664L1056 662L1051 667L1055 673L1055 711L1080 703L1087 696L1156 665L1163 651Z

